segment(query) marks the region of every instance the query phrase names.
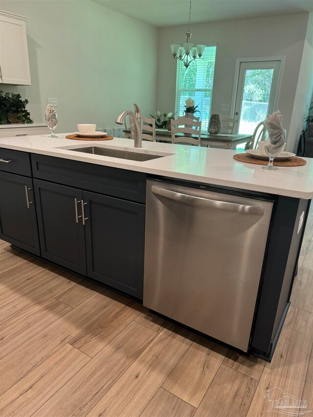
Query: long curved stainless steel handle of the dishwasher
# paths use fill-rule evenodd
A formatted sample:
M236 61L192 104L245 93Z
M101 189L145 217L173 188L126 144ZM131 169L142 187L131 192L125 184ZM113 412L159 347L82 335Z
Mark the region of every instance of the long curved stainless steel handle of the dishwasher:
M174 191L166 190L165 188L156 187L153 185L151 191L159 196L171 198L172 200L181 201L201 207L216 208L219 210L234 211L237 213L257 214L262 216L264 214L264 207L262 206L247 206L245 204L228 203L227 201L210 200L207 198L188 196L187 194L176 193Z

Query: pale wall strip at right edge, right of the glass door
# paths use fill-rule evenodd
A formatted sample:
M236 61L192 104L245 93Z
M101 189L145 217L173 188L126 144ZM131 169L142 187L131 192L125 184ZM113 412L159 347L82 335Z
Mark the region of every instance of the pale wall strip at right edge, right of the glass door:
M291 117L290 141L293 149L297 148L300 132L304 126L304 118L313 99L313 14L310 14L305 38L297 90L294 98L294 113ZM291 148L291 143L288 143Z

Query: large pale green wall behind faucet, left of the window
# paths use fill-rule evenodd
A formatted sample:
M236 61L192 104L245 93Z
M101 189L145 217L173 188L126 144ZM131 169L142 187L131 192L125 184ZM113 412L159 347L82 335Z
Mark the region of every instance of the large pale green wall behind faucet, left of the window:
M0 89L27 98L34 122L44 122L48 97L58 99L56 133L73 132L77 123L116 126L133 103L144 114L155 111L154 26L88 0L1 0L1 9L29 17L32 85Z

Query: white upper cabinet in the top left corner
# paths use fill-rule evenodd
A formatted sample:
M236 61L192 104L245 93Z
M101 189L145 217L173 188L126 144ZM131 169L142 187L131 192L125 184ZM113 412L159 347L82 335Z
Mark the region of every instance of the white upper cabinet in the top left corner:
M0 10L0 84L30 86L28 18Z

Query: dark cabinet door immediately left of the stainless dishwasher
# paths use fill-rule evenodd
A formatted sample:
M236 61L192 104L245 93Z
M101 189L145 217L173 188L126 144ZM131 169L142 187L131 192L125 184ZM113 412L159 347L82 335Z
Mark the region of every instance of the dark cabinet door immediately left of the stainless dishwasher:
M142 299L145 206L83 192L87 275Z

